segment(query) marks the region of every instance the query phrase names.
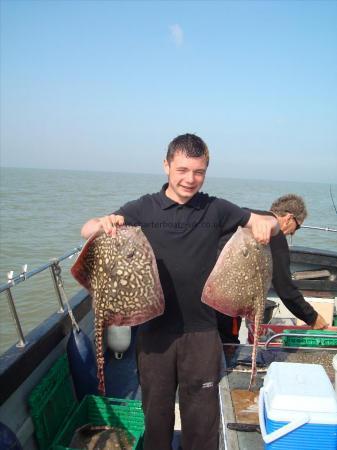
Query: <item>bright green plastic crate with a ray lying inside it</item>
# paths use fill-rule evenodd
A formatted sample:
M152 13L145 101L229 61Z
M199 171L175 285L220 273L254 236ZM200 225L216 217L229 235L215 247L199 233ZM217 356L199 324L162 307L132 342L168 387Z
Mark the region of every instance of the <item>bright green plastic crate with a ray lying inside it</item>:
M68 447L77 428L90 423L122 428L135 438L133 449L142 449L144 415L138 400L116 399L87 395L57 435L53 450L72 450Z

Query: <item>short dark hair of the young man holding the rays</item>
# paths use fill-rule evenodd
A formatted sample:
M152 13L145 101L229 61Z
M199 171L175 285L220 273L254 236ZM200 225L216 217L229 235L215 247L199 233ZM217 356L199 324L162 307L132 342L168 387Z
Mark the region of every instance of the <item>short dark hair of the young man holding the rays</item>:
M207 165L209 163L208 147L205 142L195 134L181 134L170 142L166 154L168 163L172 161L177 152L184 153L188 158L200 158L204 156Z

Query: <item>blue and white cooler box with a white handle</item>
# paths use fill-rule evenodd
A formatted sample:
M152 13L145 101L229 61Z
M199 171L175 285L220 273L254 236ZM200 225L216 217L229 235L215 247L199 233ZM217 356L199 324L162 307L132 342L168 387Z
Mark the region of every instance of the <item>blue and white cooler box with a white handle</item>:
M336 450L337 396L319 364L273 362L259 395L267 450Z

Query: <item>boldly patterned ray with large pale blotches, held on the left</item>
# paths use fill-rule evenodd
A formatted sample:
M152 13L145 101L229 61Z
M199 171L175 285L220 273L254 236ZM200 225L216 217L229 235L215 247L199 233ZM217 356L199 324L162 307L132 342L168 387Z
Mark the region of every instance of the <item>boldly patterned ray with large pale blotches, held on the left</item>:
M104 394L104 327L139 325L164 312L156 259L141 228L123 226L116 237L92 235L71 273L93 298L99 390Z

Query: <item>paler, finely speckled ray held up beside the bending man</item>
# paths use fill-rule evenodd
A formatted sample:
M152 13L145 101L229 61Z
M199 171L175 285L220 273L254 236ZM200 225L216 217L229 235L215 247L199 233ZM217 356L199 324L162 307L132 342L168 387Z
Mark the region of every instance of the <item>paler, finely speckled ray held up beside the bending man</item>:
M257 243L250 230L239 227L222 249L202 292L202 302L217 311L254 321L249 390L256 375L257 342L272 271L269 245Z

